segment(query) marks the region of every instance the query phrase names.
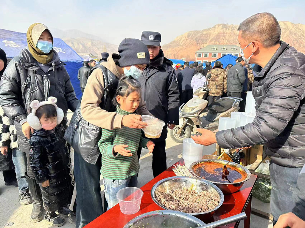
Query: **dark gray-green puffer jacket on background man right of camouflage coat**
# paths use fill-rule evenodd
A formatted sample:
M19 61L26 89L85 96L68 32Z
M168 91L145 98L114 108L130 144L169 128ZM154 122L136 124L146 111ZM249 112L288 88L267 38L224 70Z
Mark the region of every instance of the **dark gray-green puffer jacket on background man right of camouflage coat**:
M246 80L246 74L241 63L236 63L228 70L227 80L228 92L242 92L243 84Z

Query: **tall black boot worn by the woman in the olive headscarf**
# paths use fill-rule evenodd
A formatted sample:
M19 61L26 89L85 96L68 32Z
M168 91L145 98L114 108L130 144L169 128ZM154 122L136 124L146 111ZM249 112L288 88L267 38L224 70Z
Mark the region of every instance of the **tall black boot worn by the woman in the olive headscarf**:
M30 221L32 223L40 222L43 219L43 206L42 206L42 195L39 184L36 183L35 178L32 179L25 173L27 183L30 189L30 195L33 199L33 209L30 215Z

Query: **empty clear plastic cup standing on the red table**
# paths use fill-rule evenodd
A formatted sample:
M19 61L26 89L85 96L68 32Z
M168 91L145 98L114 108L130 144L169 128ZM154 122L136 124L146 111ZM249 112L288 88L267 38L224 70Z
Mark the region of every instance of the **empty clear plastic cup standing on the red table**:
M136 187L122 188L117 192L120 210L126 215L135 214L140 210L143 191Z

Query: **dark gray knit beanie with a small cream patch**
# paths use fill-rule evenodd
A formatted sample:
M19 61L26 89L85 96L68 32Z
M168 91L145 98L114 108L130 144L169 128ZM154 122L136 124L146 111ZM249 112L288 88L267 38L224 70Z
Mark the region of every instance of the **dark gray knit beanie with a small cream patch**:
M118 60L120 67L149 64L149 52L141 40L125 38L117 50L120 54L120 59Z

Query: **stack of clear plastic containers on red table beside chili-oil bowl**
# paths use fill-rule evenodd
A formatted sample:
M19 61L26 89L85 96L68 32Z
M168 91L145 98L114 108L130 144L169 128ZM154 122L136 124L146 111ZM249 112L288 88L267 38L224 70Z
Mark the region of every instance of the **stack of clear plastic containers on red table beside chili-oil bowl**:
M195 143L191 138L183 140L182 145L182 158L186 168L190 168L190 165L194 161L202 159L203 145Z

